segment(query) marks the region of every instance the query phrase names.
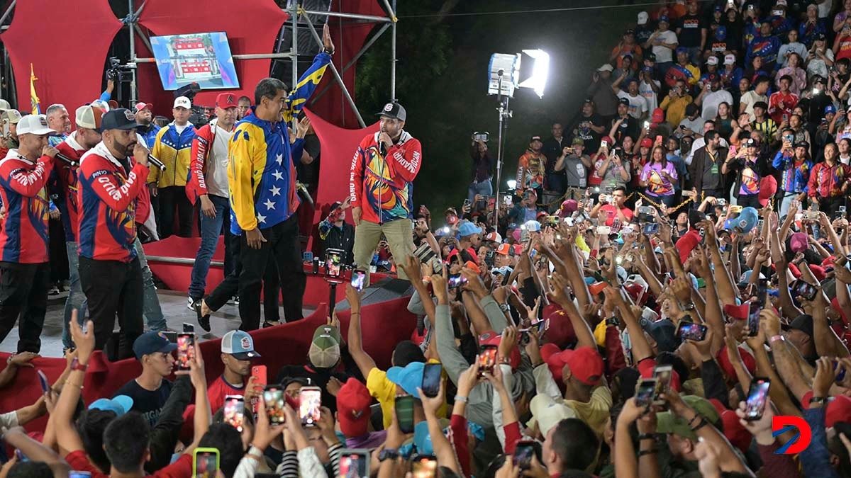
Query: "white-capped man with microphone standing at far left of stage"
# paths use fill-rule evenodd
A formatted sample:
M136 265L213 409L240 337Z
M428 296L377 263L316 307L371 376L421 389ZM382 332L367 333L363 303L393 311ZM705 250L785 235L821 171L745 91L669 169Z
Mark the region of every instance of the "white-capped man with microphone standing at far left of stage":
M50 284L47 183L56 149L44 115L18 122L18 149L0 161L0 200L14 205L0 230L0 342L20 316L18 349L38 353Z

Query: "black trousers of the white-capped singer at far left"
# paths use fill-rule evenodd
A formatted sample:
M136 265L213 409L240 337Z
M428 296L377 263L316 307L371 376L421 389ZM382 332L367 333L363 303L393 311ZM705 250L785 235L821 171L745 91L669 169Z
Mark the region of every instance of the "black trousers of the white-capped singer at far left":
M20 316L18 352L41 350L49 287L49 263L0 262L0 342Z

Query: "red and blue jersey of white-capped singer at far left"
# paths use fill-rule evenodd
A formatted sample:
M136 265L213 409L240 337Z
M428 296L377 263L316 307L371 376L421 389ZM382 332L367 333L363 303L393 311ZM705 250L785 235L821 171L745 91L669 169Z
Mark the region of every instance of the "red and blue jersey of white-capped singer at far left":
M12 149L0 161L0 198L6 219L0 230L0 261L19 264L48 262L50 202L48 179L53 158L37 162Z

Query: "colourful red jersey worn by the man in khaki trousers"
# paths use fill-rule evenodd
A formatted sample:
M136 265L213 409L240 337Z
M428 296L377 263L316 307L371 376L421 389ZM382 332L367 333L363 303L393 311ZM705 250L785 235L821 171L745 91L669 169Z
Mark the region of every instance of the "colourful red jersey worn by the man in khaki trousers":
M361 208L361 219L376 224L411 219L414 178L420 172L422 146L418 139L403 131L397 143L381 156L379 134L365 137L351 160L351 207Z

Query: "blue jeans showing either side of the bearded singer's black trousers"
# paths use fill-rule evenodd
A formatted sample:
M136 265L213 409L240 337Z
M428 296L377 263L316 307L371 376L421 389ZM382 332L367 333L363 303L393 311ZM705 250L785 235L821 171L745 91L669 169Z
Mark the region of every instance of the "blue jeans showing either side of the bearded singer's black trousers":
M62 322L62 346L70 348L73 346L71 342L71 329L68 324L71 322L71 311L77 310L77 321L80 325L86 320L86 311L88 310L86 296L83 294L83 286L80 284L80 255L77 249L77 242L66 242L68 251L68 270L70 272L70 289L68 291L68 299L65 301L65 315ZM136 255L139 257L139 264L142 268L142 286L143 290L143 314L147 322L148 329L159 332L165 330L166 322L163 316L163 309L160 307L159 298L157 297L157 287L154 286L154 277L151 274L151 268L148 267L148 259L145 257L145 250L142 248L142 243L139 238L136 238L134 243Z

